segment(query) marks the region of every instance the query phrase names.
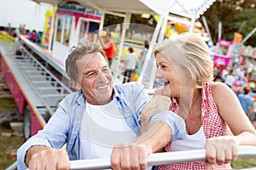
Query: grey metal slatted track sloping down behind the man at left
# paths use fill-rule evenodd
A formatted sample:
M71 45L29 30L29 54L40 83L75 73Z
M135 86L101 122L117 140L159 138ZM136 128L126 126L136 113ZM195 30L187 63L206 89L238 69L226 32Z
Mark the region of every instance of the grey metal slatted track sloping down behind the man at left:
M47 63L40 63L22 46L18 49L20 54L16 53L15 45L2 42L1 52L5 56L4 59L11 67L13 75L20 79L17 82L20 82L22 91L30 100L32 110L40 117L39 121L46 123L61 99L72 93L72 90L46 68Z

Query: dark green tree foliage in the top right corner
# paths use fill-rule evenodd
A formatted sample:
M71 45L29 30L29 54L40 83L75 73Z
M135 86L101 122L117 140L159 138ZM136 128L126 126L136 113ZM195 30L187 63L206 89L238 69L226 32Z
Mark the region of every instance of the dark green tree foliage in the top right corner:
M222 39L232 41L235 32L246 37L256 27L256 0L218 0L204 14L212 35L212 41L218 39L218 22L222 22ZM246 45L256 46L256 33Z

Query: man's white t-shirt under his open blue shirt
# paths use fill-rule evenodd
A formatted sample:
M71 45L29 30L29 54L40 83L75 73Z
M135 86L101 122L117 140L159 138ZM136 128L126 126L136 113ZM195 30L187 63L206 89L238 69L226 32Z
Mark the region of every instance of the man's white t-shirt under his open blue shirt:
M107 105L86 103L79 132L80 159L110 158L114 144L137 139L113 101Z

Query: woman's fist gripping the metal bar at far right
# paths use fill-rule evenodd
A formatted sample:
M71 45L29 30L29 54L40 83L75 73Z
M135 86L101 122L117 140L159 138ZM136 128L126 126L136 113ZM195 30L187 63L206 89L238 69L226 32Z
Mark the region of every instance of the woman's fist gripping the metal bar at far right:
M236 161L238 142L233 136L220 136L207 139L207 162L222 165Z

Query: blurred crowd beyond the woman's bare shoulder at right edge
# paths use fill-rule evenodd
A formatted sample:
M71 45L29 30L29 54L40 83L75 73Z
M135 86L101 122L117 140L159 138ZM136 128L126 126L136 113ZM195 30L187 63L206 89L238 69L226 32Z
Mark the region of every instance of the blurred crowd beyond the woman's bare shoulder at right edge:
M241 63L214 67L216 81L227 84L237 95L241 106L256 127L256 61L245 57Z

